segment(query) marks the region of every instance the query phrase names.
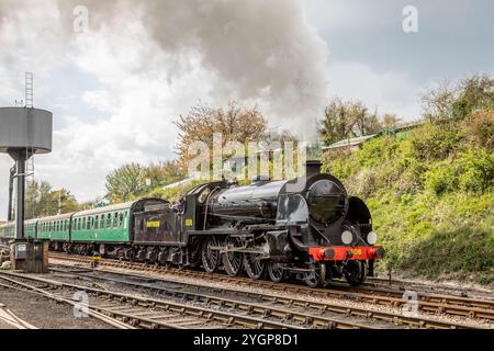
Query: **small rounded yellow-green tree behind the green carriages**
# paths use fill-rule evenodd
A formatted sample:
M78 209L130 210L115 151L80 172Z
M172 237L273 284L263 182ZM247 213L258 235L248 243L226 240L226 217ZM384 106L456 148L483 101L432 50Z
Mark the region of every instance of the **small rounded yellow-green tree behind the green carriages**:
M112 202L128 201L145 189L143 167L138 163L124 165L106 176L106 193Z

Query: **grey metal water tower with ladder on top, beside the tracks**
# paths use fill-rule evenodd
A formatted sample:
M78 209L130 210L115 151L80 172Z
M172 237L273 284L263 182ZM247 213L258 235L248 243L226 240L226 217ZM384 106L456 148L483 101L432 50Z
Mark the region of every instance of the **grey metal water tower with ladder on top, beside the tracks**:
M27 161L35 154L52 151L52 112L34 109L26 75L26 104L23 107L0 107L0 152L9 154L15 161L15 241L24 240L24 192ZM32 82L32 81L31 81ZM27 167L29 168L29 167ZM9 197L12 194L9 194ZM9 208L10 214L11 208ZM11 218L9 218L11 219Z

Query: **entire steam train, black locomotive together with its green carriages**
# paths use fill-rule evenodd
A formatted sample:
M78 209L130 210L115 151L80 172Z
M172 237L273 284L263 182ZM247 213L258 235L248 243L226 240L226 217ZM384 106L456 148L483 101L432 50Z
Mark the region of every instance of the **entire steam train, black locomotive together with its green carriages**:
M137 201L25 222L25 236L53 250L145 261L223 268L273 282L295 278L315 287L333 278L356 285L373 274L384 250L367 205L348 196L335 177L308 161L306 176L250 185L226 181L191 189L180 204ZM13 224L0 238L13 238Z

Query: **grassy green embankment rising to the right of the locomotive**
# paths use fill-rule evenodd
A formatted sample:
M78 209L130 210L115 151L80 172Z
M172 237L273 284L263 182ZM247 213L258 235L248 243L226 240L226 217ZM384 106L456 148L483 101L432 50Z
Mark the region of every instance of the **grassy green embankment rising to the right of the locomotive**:
M368 203L381 271L494 283L494 111L381 136L324 156Z

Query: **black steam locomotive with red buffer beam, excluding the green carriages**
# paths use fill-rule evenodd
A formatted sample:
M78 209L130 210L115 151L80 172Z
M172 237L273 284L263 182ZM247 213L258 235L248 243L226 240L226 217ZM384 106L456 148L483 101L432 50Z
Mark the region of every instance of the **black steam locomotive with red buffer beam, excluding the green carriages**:
M306 177L290 181L258 177L247 186L225 181L195 186L178 208L136 215L136 223L168 223L168 234L150 238L137 230L136 238L171 245L158 261L202 265L206 272L223 268L229 275L245 271L273 282L295 278L313 287L343 276L359 284L373 274L384 250L374 246L363 201L319 170L318 161L310 161Z

